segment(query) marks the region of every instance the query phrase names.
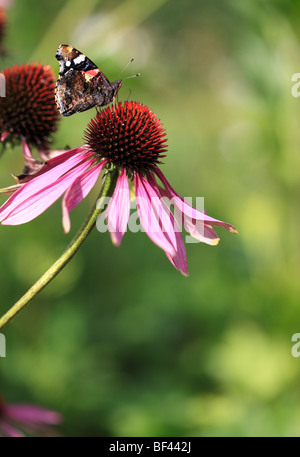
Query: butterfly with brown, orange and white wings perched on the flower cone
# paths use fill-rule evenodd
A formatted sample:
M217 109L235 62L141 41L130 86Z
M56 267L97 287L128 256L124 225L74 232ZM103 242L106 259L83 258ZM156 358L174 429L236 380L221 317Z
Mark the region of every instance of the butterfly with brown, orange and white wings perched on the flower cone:
M110 83L97 65L67 44L59 46L55 57L59 62L55 101L60 114L71 116L114 100L122 80Z

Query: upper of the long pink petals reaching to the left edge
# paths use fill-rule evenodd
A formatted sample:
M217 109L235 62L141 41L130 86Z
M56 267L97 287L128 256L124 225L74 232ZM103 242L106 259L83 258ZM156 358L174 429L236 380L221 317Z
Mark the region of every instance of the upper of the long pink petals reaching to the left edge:
M17 190L0 208L0 221L3 221L12 211L28 198L39 193L41 189L55 183L64 173L86 160L86 155L79 148L63 154L64 158L55 157L46 163L37 176L29 177L29 181ZM74 151L76 151L74 155ZM73 153L72 153L73 152Z

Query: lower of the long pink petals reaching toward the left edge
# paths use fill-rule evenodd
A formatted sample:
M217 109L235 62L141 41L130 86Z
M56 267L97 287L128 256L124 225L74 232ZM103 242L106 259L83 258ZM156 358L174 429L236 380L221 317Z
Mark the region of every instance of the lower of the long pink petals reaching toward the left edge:
M24 200L21 199L21 202L18 202L18 199L15 199L13 209L7 208L7 215L2 219L1 210L0 210L0 219L2 220L3 225L19 225L29 222L35 217L43 213L49 206L52 205L77 179L91 164L90 160L85 160L83 163L80 163L76 167L72 168L71 171L65 173L56 181L52 182L46 187L37 189L36 193L31 195L29 198ZM22 189L16 192L22 192L26 190L27 186L33 184L33 181L25 184ZM14 198L15 194L10 197ZM22 197L22 195L21 195Z

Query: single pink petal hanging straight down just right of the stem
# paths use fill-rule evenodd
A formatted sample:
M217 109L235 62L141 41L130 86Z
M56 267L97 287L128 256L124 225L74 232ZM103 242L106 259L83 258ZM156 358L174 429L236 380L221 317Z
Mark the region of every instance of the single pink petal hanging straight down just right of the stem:
M126 170L122 169L107 208L107 226L112 242L120 246L130 215L130 195Z

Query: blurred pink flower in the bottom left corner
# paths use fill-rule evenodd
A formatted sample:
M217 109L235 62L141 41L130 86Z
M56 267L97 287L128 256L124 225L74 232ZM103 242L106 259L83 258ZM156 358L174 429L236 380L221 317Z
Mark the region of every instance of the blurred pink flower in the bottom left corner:
M40 406L8 404L0 398L0 437L55 436L61 415Z

